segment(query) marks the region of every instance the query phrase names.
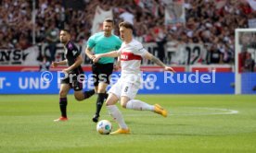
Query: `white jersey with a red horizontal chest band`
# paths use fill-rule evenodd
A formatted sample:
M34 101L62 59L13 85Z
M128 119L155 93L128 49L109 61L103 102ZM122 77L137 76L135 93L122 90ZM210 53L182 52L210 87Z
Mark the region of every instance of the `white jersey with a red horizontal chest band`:
M132 76L140 76L141 60L147 53L141 42L133 39L128 44L122 42L121 48L117 51L121 56L122 78L127 81L134 81ZM140 77L137 81L140 81Z

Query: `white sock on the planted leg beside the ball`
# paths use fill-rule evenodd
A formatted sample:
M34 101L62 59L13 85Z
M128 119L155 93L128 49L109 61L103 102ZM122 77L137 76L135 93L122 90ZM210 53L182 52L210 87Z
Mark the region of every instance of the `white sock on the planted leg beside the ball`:
M127 129L128 126L125 124L122 113L119 111L116 105L109 105L107 106L110 115L114 118L114 120L119 124L120 128Z

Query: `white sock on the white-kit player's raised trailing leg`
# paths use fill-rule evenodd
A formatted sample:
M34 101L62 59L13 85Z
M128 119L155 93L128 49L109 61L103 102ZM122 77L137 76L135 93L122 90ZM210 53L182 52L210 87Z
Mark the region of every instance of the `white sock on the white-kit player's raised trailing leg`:
M154 111L155 106L149 105L141 100L129 100L126 104L126 109L138 111Z

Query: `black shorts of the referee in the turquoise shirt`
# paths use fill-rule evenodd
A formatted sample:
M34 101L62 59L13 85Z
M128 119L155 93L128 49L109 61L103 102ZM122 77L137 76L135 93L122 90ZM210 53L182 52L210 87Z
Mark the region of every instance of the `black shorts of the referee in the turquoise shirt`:
M110 77L113 72L113 64L93 64L92 65L94 85L98 86L99 82L110 83Z

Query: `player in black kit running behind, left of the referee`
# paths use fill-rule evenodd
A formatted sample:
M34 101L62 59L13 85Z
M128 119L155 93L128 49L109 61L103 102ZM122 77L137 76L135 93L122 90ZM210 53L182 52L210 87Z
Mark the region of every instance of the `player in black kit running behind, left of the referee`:
M68 65L68 68L63 69L65 77L61 80L59 90L59 108L61 116L54 120L55 122L67 121L67 95L70 88L74 89L74 97L76 100L84 100L90 98L95 94L95 90L83 91L83 69L81 64L83 58L81 51L70 41L70 31L68 29L61 29L59 33L59 40L64 45L65 60L59 62L53 62L52 66L57 67L58 65Z

